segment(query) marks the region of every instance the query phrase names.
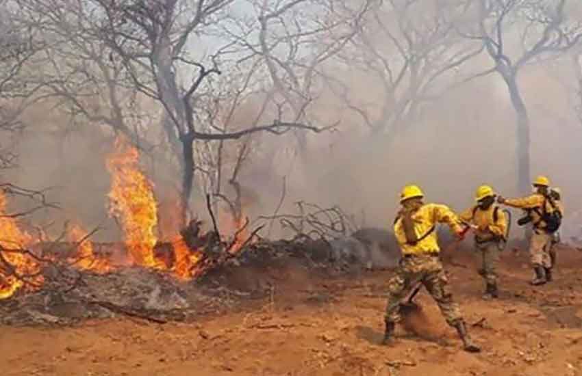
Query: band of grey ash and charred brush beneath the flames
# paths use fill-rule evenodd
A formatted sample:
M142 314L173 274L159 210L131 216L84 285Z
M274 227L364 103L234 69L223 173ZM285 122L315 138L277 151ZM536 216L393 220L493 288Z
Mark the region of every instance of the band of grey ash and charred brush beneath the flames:
M60 243L59 247L66 247L66 244ZM111 250L115 246L95 248ZM54 246L50 249L53 254L58 253L54 252ZM59 263L53 258L55 263L42 268L45 282L39 290L19 292L0 301L0 322L5 325L70 325L86 319L120 316L151 323L189 321L244 299L268 296L268 284L257 282L265 276L256 273L256 280L241 282L240 273L268 268L282 270L291 266L338 276L366 266L350 254L332 257L334 252L330 243L321 239L260 240L246 245L234 257L220 258L220 262L214 258L208 271L188 281L179 280L168 271L136 266L98 273ZM349 257L351 268L342 267L346 264L344 257Z

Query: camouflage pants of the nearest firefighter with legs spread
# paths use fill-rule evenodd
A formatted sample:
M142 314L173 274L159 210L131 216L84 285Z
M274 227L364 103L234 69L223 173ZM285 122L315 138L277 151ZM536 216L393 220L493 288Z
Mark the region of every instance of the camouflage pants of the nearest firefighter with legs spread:
M394 323L401 320L400 302L418 282L421 282L435 299L446 323L455 326L461 320L461 312L453 302L442 263L438 256L430 255L402 258L396 276L388 282L385 320Z

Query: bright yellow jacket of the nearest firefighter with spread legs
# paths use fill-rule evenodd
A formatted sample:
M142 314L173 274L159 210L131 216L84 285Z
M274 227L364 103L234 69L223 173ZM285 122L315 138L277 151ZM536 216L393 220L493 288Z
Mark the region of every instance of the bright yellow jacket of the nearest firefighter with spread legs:
M454 232L461 232L463 225L457 215L448 208L448 206L440 204L425 204L412 215L414 221L414 232L418 239L425 237L412 245L406 241L406 234L404 232L402 218L396 218L394 222L394 234L396 241L400 245L402 254L423 254L431 252L440 252L438 246L438 236L435 226L439 223L448 224Z

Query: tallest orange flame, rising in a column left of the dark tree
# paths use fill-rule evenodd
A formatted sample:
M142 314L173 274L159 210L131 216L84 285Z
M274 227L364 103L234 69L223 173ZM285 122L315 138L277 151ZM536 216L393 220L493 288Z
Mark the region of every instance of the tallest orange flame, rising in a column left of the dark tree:
M115 151L107 158L107 170L112 175L109 193L110 215L121 219L125 245L133 262L143 267L164 267L153 254L157 242L157 207L153 184L140 171L138 150L124 139L115 142Z

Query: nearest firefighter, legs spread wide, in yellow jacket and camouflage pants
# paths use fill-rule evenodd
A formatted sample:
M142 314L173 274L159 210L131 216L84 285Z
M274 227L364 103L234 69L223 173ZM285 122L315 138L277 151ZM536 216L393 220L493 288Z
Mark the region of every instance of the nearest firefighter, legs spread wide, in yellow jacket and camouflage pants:
M401 320L400 302L420 282L435 299L448 325L459 333L464 349L479 352L481 349L472 342L459 307L453 301L439 258L440 247L435 231L437 224L445 223L462 239L466 228L448 206L425 204L423 197L416 185L404 187L401 193L402 207L394 221L394 234L402 258L396 275L388 282L383 344L392 343L396 323Z

